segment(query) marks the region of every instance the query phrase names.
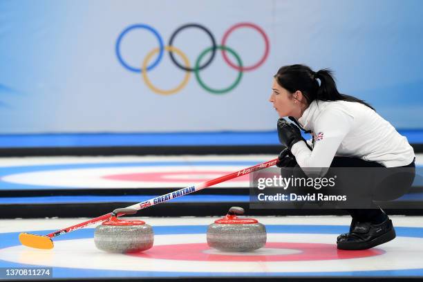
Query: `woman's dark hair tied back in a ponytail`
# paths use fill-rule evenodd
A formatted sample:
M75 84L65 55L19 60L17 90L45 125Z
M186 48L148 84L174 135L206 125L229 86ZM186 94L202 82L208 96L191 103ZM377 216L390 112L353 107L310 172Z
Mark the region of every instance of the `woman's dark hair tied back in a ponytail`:
M311 68L301 64L283 66L274 75L276 82L290 93L301 91L308 104L314 100L321 101L349 101L358 102L373 109L373 106L356 97L338 92L337 84L333 79L332 71L324 68L314 72ZM320 80L320 85L317 79Z

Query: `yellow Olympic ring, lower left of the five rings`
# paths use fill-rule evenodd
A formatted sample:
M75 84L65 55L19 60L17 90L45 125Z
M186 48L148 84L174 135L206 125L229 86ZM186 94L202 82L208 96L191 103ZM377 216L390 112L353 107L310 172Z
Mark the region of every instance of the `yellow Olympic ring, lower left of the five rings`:
M147 65L149 64L149 60L151 59L151 57L153 57L154 54L158 53L159 50L160 50L159 48L154 48L153 50L151 50L150 53L147 54L144 61L142 62L141 75L142 75L142 78L144 79L145 84L151 89L151 91L161 95L171 95L180 91L182 88L184 88L187 85L189 81L189 76L191 75L191 73L187 71L187 73L185 74L184 80L182 80L182 83L176 86L176 88L173 88L170 90L162 90L157 88L156 86L153 86L153 84L151 84L150 82L149 77L147 77ZM187 68L190 67L187 55L182 53L182 51L179 50L178 48L174 46L165 46L164 50L167 50L168 52L175 52L176 54L180 55L180 57L182 57L182 60L185 63L185 66Z

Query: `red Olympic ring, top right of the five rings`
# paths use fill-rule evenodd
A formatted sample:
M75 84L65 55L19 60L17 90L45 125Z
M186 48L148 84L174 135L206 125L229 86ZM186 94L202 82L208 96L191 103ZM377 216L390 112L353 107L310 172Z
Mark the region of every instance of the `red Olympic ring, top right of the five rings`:
M264 30L260 28L259 26L256 26L254 23L237 23L236 25L232 26L225 32L225 35L223 35L222 44L220 45L226 46L225 43L227 41L227 37L229 37L229 34L232 31L236 30L237 28L253 28L254 30L257 30L265 41L265 53L263 57L261 57L260 61L252 66L241 66L241 67L236 66L236 64L233 64L231 61L229 61L229 58L227 57L226 51L224 48L222 49L223 59L225 59L225 62L227 62L229 66L231 66L232 68L235 68L237 71L253 71L256 68L259 68L259 66L261 66L261 64L263 64L265 60L267 59L267 55L269 55L269 49L270 49L269 39L267 38L267 35L264 32Z

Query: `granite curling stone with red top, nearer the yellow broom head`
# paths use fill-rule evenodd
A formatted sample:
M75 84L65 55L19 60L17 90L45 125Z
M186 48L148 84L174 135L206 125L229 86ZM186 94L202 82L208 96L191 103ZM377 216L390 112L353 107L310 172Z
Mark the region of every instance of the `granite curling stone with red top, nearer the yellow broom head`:
M136 209L115 209L111 218L95 227L95 247L106 252L142 252L153 247L154 234L142 220L120 220L118 214L135 214Z

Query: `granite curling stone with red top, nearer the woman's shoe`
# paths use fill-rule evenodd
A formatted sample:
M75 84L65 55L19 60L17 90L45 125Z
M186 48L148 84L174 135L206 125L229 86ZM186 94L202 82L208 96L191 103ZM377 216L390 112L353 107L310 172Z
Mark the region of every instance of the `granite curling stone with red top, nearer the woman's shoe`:
M207 244L225 252L251 252L266 243L266 227L254 218L238 218L242 207L231 207L224 218L216 220L207 229Z

